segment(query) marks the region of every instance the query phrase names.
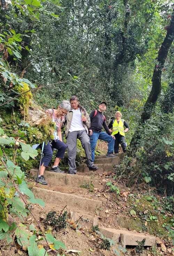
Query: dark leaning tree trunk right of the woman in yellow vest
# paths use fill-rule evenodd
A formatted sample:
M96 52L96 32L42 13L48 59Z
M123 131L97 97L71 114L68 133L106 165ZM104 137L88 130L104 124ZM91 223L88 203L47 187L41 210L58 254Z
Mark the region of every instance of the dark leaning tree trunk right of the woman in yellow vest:
M153 108L155 107L157 99L161 93L161 72L164 67L164 63L167 58L169 48L171 47L174 39L174 9L172 12L171 23L169 26L166 27L166 30L166 37L159 49L157 56L158 65L156 65L153 70L152 90L149 94L147 101L144 104L143 112L141 114L141 119L138 125L139 127L137 127L137 130L135 131L134 136L130 142L130 148L132 150L131 155L136 153L137 147L139 146L140 143L140 126L151 117Z

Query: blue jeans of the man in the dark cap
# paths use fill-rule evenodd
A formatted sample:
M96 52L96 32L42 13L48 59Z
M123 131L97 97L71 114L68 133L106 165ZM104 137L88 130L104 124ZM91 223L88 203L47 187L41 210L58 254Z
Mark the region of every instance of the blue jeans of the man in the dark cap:
M93 162L95 159L95 147L96 147L98 139L107 141L108 142L108 153L107 154L113 154L115 140L111 137L111 135L108 135L106 132L93 132L93 135L90 138L90 146L91 146L91 151L92 151L92 161Z

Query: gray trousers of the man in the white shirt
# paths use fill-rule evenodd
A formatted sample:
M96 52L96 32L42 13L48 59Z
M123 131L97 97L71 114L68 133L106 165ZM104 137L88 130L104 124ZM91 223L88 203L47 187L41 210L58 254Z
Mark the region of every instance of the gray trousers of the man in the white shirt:
M82 147L85 150L88 167L93 165L91 157L91 147L89 136L86 130L69 132L66 138L66 145L68 147L68 165L69 173L76 173L76 153L77 153L77 139L80 140Z

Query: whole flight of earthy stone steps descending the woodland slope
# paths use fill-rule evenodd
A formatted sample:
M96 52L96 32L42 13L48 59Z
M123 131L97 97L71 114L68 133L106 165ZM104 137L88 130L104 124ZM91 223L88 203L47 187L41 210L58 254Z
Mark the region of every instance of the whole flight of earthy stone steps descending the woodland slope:
M87 229L99 225L101 232L106 237L113 239L116 243L121 242L123 247L137 245L136 241L142 241L143 238L146 239L146 246L155 245L155 237L149 234L103 227L97 213L102 210L103 202L96 200L95 196L87 193L87 190L83 188L83 185L94 180L97 182L98 175L103 172L110 172L113 165L118 165L122 158L123 154L116 154L116 157L111 158L96 156L95 164L99 169L95 172L89 171L86 164L79 166L76 175L45 171L44 175L48 185L38 184L38 186L34 186L32 188L33 193L36 197L45 201L46 213L54 210L61 211L66 205L66 210L69 212L72 221L75 222L80 218L79 224ZM36 176L37 170L31 170L30 174Z

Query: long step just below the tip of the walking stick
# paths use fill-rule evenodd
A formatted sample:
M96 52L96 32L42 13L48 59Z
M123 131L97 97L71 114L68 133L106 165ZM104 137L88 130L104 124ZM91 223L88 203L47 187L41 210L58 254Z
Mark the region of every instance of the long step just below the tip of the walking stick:
M67 209L74 211L95 211L97 208L101 208L102 202L98 200L88 199L86 197L81 197L74 194L66 194L57 191L52 191L40 187L33 187L33 193L36 197L41 198L45 202L46 209L52 209L57 211L57 209L67 205Z

